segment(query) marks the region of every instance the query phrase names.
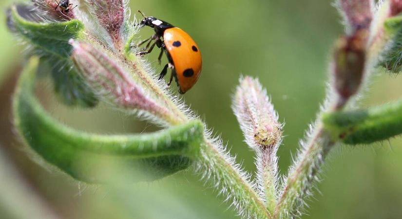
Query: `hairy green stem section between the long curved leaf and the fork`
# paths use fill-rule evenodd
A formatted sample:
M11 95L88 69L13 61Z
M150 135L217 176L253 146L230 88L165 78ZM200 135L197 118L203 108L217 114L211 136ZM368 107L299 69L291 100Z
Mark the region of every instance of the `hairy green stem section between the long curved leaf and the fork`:
M238 165L233 164L233 158L224 153L222 146L216 146L208 139L204 141L201 156L196 162L202 179L210 180L219 194L226 197L225 201L231 200L231 205L242 218L271 219L263 201L248 183L247 176Z

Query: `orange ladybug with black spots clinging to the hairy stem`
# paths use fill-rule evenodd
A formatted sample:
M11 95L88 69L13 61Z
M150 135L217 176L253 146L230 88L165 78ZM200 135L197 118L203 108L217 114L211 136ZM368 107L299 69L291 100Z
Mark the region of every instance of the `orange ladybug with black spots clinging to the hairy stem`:
M159 64L163 53L168 57L168 64L160 73L159 80L166 75L169 67L172 69L172 74L168 86L172 84L174 77L179 87L179 93L184 94L197 82L201 74L202 57L197 44L182 29L158 18L146 17L141 11L138 12L144 17L139 27L152 27L155 34L138 43L136 47L148 42L137 55L142 56L151 53L155 45L160 48Z

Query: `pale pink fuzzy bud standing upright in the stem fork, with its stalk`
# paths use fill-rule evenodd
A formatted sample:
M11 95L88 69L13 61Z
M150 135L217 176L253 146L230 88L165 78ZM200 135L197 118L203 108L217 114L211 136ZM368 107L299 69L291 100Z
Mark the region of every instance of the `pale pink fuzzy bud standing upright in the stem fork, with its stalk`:
M282 125L257 79L240 78L232 109L240 123L246 142L256 151L257 179L261 197L273 213L276 205L278 164L276 151L281 144Z

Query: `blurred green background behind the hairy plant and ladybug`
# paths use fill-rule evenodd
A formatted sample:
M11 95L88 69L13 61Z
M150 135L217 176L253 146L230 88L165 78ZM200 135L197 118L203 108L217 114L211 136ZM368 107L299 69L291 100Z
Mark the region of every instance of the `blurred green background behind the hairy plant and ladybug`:
M0 2L0 149L15 165L23 183L45 205L65 219L223 219L237 218L227 203L190 171L154 183L107 188L74 182L65 174L33 162L11 126L10 99L23 60L23 46L6 29ZM231 154L249 172L255 171L253 153L243 142L231 112L231 95L241 74L259 77L267 88L281 121L286 122L279 166L287 173L291 154L325 95L326 70L333 41L342 34L340 17L331 0L131 0L133 12L171 22L186 30L203 54L203 73L185 100L231 146ZM137 15L138 17L139 15ZM152 30L143 30L142 38ZM155 52L149 60L157 70ZM374 77L362 107L400 98L402 76L381 71ZM175 87L175 86L173 86ZM98 133L152 131L149 124L105 106L94 110L68 109L49 95L42 82L40 95L60 121ZM101 119L99 119L101 118ZM324 168L323 181L304 219L402 218L402 141L400 137L370 146L334 149ZM1 158L0 158L1 159ZM0 172L3 173L4 172ZM13 174L11 174L13 175ZM0 186L11 175L0 176ZM6 189L7 191L8 189ZM12 189L9 190L12 192ZM1 202L0 202L1 203ZM16 200L17 209L29 201ZM0 218L13 218L1 205ZM228 209L229 208L229 209ZM8 212L8 213L7 213ZM17 217L16 217L17 218Z

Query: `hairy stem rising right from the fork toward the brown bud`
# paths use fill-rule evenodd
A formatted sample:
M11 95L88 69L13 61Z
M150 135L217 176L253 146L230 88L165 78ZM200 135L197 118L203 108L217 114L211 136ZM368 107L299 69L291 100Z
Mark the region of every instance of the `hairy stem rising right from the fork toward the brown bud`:
M277 202L274 219L287 219L300 216L300 210L305 205L306 197L311 195L314 181L318 181L318 173L329 150L335 146L331 135L324 129L321 121L324 112L342 110L346 100L340 98L331 91L327 94L327 100L318 120L312 125L307 135L307 141L302 143L302 149L290 167L280 198Z

